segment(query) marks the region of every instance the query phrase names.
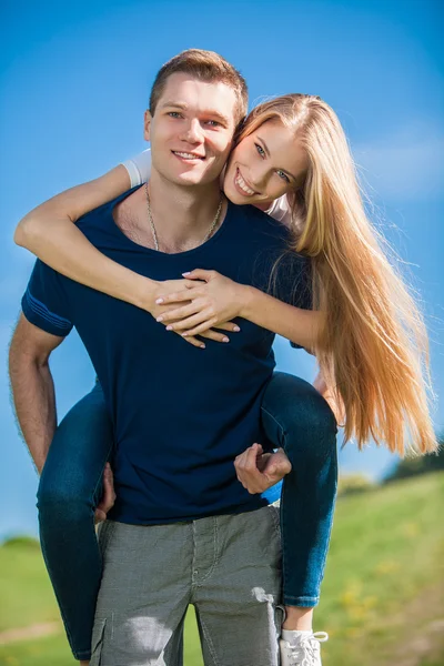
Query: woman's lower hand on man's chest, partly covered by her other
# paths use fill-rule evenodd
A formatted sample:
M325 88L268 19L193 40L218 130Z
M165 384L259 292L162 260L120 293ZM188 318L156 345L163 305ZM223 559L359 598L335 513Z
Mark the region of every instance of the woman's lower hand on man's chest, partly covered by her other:
M204 283L202 282L202 284ZM178 293L185 296L198 285L199 283L192 280L165 280L164 282L159 282L155 287L154 295L150 297L150 304L147 310L158 322L162 322L165 326L169 326L170 324L175 325L175 323L179 322L179 317L171 316L171 314L178 310L178 303L174 302L173 296ZM162 294L162 296L160 294ZM159 300L164 297L170 299L172 303L163 305L160 304ZM181 299L182 307L191 304L191 300L185 300L185 304L183 303L184 300L184 297ZM218 329L233 332L236 331L239 326L236 326L233 322L226 321L222 322ZM172 329L169 330L171 331ZM176 333L182 336L182 331L179 330ZM214 342L230 342L229 337L224 333L220 333L220 331L213 331L211 326L201 331L200 336L205 337L206 340L213 340ZM193 346L205 349L204 342L198 340L194 335L186 335L183 337L185 342L189 342Z

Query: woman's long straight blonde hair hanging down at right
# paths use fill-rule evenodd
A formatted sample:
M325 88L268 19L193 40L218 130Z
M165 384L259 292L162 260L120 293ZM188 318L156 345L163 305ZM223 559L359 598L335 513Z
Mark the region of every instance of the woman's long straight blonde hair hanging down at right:
M341 123L320 98L289 94L256 107L238 141L270 120L293 130L309 157L303 185L287 194L292 250L312 258L313 307L325 313L314 351L342 400L345 441L434 451L426 329L365 214Z

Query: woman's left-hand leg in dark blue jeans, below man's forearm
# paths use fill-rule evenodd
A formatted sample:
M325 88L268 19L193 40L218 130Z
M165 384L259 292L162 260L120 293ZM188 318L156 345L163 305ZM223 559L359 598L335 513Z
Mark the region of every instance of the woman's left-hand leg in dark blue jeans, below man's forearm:
M100 384L60 423L40 478L40 541L72 653L88 662L102 574L94 509L113 435Z

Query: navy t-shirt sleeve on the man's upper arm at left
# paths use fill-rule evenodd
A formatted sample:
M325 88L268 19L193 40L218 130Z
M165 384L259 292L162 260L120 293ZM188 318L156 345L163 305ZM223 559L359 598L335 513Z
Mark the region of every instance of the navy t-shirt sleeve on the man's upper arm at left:
M21 309L27 320L47 333L67 336L72 330L63 278L37 260Z

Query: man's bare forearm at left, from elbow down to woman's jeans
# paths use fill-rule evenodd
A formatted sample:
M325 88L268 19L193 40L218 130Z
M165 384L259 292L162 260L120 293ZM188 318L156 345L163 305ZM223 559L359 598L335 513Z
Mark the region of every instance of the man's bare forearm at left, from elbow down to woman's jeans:
M57 426L56 396L48 361L10 354L17 420L36 467L41 473Z

